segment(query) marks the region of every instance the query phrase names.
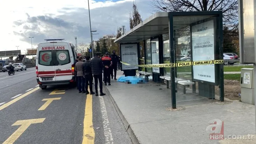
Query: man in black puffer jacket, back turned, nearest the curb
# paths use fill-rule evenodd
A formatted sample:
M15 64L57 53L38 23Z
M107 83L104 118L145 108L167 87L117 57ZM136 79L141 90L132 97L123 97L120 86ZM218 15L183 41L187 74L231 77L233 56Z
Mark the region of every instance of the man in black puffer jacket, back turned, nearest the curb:
M94 83L95 83L95 96L98 96L98 80L100 83L100 96L104 96L106 94L102 91L102 69L103 69L103 63L100 59L100 54L96 53L96 56L90 61L90 66L92 68L92 74L94 77Z

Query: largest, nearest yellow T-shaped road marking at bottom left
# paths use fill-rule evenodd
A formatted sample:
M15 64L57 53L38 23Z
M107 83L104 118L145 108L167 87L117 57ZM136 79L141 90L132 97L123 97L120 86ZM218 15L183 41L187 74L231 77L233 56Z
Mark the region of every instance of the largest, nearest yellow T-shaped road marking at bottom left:
M20 135L28 128L29 125L34 123L42 123L45 118L38 118L38 119L26 119L15 122L14 125L21 125L8 139L5 140L3 144L12 144L17 140Z

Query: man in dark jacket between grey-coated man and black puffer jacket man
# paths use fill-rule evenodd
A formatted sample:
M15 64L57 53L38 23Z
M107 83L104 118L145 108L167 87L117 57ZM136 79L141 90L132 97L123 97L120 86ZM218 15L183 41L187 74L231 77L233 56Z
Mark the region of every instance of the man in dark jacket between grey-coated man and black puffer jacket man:
M90 88L90 94L95 94L93 92L93 74L92 74L92 68L90 66L90 56L86 56L86 61L83 63L83 77L85 78L85 91L86 95L89 94L88 91L88 83Z

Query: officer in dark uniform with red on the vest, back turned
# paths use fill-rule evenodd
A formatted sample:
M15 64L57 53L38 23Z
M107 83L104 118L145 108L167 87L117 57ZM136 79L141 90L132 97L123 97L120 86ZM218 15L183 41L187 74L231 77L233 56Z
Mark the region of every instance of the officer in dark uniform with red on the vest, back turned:
M111 72L111 67L112 67L112 59L108 56L108 52L106 52L105 56L101 58L102 60L102 63L104 65L104 68L103 68L103 75L104 75L104 83L105 85L107 85L107 82L108 82L108 85L111 85L110 84L110 72Z

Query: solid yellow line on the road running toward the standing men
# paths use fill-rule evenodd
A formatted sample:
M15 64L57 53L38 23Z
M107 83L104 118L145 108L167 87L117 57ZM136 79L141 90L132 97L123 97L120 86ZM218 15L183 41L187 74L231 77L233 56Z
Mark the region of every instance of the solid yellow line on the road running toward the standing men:
M83 120L82 144L94 144L95 133L93 129L93 96L88 94L85 103L85 119Z

